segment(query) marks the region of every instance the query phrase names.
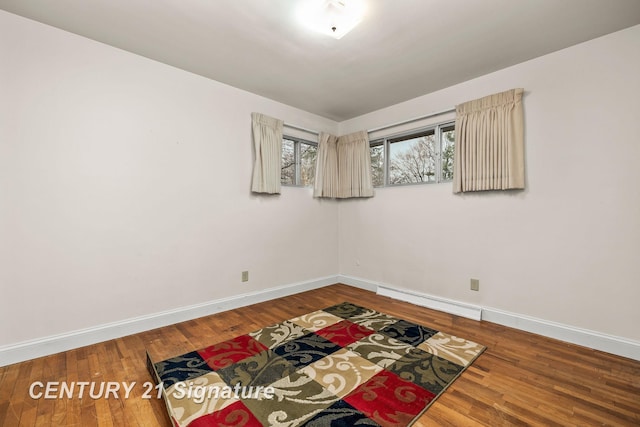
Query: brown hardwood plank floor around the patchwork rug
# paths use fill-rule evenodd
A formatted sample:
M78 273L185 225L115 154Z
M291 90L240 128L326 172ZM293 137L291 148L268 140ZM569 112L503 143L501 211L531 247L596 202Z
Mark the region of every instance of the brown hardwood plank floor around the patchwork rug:
M0 426L166 426L145 399L145 351L162 360L342 301L458 335L487 350L414 426L640 426L640 362L346 285L285 297L0 368ZM34 381L136 383L128 399L33 399ZM36 388L36 392L44 389ZM77 396L77 393L76 393Z

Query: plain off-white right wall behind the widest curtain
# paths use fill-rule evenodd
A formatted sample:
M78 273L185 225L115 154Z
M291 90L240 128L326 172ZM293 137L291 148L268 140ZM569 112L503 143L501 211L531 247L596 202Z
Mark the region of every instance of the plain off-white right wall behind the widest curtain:
M341 123L526 91L526 191L407 186L341 203L341 274L639 340L638 46L640 26Z

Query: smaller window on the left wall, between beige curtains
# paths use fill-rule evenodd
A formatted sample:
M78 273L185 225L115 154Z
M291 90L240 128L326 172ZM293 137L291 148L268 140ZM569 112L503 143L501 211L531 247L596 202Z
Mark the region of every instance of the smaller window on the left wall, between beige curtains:
M313 185L317 153L317 143L285 136L282 139L280 182L283 185Z

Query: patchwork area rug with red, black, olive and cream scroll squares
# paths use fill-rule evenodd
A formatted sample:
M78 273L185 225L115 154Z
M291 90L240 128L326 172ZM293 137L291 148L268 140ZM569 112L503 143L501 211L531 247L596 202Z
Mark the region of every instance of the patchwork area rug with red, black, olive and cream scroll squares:
M484 349L344 302L148 364L176 426L408 426Z

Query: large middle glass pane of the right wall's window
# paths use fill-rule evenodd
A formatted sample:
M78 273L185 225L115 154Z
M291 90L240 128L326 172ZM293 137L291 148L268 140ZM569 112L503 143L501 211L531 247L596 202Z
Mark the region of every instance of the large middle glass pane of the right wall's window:
M433 131L389 141L389 183L435 182Z

